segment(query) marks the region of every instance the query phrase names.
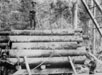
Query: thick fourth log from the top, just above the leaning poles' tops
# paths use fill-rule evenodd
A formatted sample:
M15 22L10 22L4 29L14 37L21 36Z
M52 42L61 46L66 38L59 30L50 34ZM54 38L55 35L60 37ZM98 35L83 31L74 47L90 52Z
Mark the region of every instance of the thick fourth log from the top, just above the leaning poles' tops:
M53 56L83 56L86 55L85 48L78 50L9 50L11 57L48 57Z

